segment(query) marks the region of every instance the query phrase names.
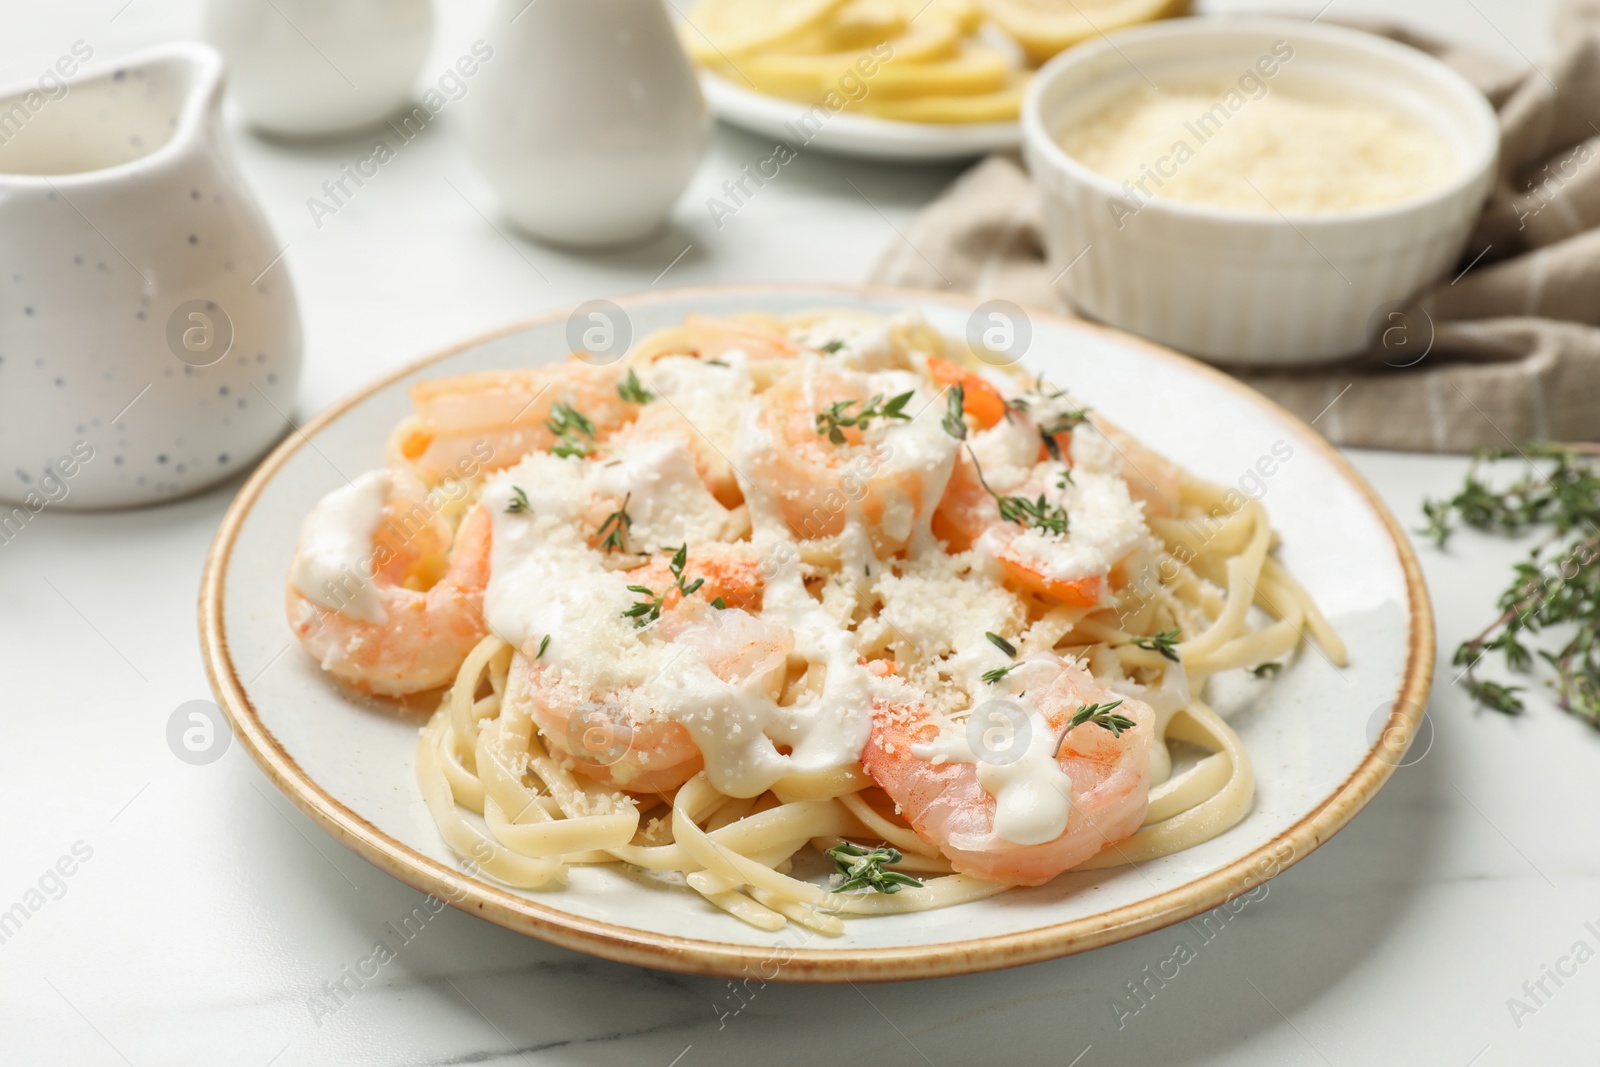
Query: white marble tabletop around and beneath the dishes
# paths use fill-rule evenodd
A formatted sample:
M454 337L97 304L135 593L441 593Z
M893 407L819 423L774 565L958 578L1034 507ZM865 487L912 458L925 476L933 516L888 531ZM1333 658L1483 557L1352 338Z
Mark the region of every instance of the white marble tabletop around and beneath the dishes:
M1346 16L1390 8L1338 3ZM1550 51L1546 3L1405 6L1510 58ZM195 8L11 5L0 78L43 69L74 40L112 56L192 37ZM477 37L483 11L451 0L430 69ZM802 155L717 229L706 197L770 152L718 131L666 235L579 258L486 221L491 197L448 115L320 230L306 198L363 146L232 136L290 243L309 346L301 413L430 349L587 298L864 277L954 173ZM1354 459L1405 522L1462 470L1450 458ZM720 1027L720 981L598 961L454 910L378 979L346 979L419 894L301 817L237 745L189 766L163 736L178 704L210 696L194 600L234 488L152 510L46 512L0 545L0 910L42 878L48 891L0 942L0 1062L1600 1062L1600 963L1589 961L1600 949L1600 736L1542 696L1514 721L1474 710L1450 683L1450 649L1490 617L1512 545L1467 536L1448 555L1422 550L1443 649L1432 749L1213 941L1174 928L968 979L768 985ZM70 877L46 877L62 857ZM1179 937L1197 958L1126 1014L1126 984ZM1579 941L1586 961L1557 985L1544 968ZM1538 993L1541 979L1549 995L1534 1003L1523 984ZM338 982L349 992L330 1000ZM1514 1017L1512 997L1534 1011Z

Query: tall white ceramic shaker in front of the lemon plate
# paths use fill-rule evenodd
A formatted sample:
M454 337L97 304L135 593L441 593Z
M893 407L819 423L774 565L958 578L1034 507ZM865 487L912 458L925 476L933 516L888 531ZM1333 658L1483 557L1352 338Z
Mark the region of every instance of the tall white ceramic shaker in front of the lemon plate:
M501 0L485 35L462 123L510 221L586 248L658 230L710 138L661 0Z

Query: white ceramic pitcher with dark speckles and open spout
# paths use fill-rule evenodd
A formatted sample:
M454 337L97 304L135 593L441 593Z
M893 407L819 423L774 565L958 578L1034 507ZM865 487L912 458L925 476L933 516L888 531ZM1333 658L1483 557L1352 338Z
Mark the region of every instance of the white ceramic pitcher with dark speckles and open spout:
M189 43L0 90L0 541L192 493L290 426L299 314L221 93Z

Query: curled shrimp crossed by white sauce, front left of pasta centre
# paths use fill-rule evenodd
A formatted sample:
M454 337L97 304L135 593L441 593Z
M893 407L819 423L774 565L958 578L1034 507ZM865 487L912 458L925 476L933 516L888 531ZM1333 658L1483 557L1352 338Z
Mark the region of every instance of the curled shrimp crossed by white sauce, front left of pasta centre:
M699 600L667 608L658 635L704 664L715 681L771 699L782 688L794 649L789 630L739 608L717 609ZM530 696L533 721L544 739L571 758L578 771L613 789L667 792L706 766L690 729L661 717L659 709L640 707L637 688L586 693L558 667L534 661Z

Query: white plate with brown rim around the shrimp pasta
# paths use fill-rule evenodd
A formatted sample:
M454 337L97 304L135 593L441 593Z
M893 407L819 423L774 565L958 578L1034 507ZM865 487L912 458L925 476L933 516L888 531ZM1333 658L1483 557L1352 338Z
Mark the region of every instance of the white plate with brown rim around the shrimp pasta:
M922 310L963 333L973 301L909 290L718 286L618 301L634 338L690 310ZM1067 873L962 907L851 920L838 939L763 933L686 889L618 869L576 869L558 891L515 891L462 873L418 793L419 718L354 697L298 648L283 582L301 518L344 475L378 467L419 378L563 358L557 312L432 357L323 413L240 491L202 589L202 643L218 697L272 781L344 845L421 889L502 926L597 955L691 973L778 969L784 981L960 974L1053 958L1189 918L1304 859L1387 779L1419 721L1434 664L1421 571L1394 518L1302 422L1234 379L1120 333L1032 312L1024 363L1221 483L1264 486L1282 560L1350 646L1334 669L1302 649L1270 683L1219 677L1213 701L1250 749L1253 811L1226 833L1138 869ZM1270 477L1262 456L1293 454ZM1395 707L1397 705L1397 707ZM1398 718L1390 720L1390 707ZM1379 739L1384 723L1389 733Z

